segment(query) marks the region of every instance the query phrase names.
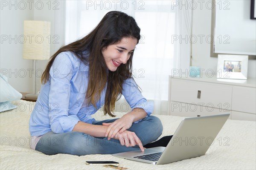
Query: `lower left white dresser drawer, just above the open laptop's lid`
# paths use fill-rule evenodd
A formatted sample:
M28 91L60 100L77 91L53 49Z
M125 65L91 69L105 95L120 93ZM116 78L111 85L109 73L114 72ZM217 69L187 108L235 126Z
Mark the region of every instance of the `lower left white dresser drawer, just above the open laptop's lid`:
M210 115L216 115L216 114L231 113L231 111L229 110L212 108L210 106L193 105L189 103L181 103L181 102L173 102L173 101L171 102L169 112L170 112L169 115L172 115L172 116L186 116L186 117L210 116ZM229 117L229 119L231 119L231 116Z

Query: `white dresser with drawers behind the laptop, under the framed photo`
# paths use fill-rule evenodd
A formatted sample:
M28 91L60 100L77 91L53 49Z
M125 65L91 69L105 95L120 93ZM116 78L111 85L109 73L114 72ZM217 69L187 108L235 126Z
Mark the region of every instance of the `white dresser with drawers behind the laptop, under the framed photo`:
M187 117L230 113L229 119L256 121L256 79L169 76L168 113Z

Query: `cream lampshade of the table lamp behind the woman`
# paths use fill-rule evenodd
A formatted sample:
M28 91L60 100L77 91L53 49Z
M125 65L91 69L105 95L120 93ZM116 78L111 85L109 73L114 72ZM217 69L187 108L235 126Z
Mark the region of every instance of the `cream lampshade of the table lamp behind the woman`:
M50 27L48 21L24 21L23 59L50 58Z

